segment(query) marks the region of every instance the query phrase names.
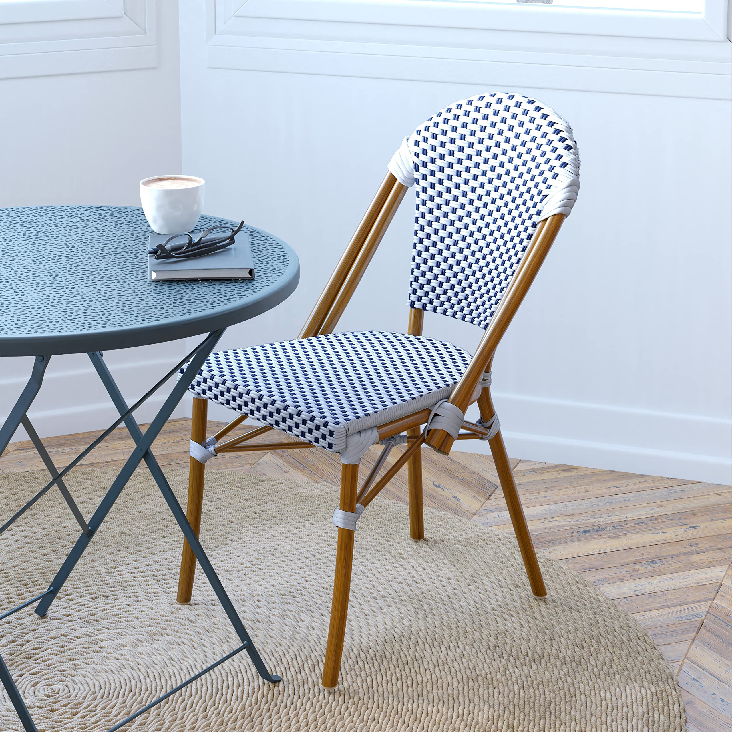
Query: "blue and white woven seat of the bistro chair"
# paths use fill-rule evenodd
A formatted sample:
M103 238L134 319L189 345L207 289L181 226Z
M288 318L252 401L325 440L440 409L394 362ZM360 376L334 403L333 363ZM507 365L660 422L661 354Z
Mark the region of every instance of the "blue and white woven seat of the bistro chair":
M447 399L471 356L416 335L351 332L212 354L190 390L331 452Z

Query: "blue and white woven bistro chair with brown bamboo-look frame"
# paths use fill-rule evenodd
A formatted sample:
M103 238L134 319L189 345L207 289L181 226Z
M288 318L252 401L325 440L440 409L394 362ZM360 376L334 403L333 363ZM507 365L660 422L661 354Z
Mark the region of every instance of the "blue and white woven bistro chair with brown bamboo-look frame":
M490 397L490 365L579 188L569 124L520 94L471 97L438 112L404 139L346 252L297 340L220 351L190 386L193 425L187 516L201 526L203 471L225 452L320 448L340 455L335 583L322 684L340 673L359 516L405 463L412 539L425 536L421 449L449 455L455 440L488 440L531 591L546 590ZM397 206L416 184L407 333L335 326ZM474 355L422 336L425 311L485 330ZM207 400L239 412L206 438ZM477 422L466 421L476 402ZM247 417L264 426L227 441ZM296 441L247 444L269 430ZM359 462L383 451L359 487ZM401 455L378 477L397 445ZM190 602L195 557L187 543L178 602Z

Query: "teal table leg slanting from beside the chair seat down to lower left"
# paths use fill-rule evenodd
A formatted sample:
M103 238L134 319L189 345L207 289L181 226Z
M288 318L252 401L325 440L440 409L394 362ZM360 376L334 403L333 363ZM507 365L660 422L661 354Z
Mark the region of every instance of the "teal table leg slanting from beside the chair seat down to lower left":
M86 550L86 547L89 546L89 542L91 542L91 539L94 537L94 532L101 526L102 521L105 519L111 507L113 507L114 502L119 498L119 494L122 493L122 489L127 485L127 481L132 477L132 473L135 472L135 468L137 468L143 459L143 455L145 455L155 438L160 434L160 430L163 429L165 422L167 422L171 414L173 414L173 409L178 406L179 401L182 399L184 393L188 389L188 386L190 386L190 382L193 381L195 374L198 373L203 362L208 358L222 333L223 330L212 332L205 340L203 340L201 345L196 348L185 375L175 386L173 386L170 395L163 403L163 406L160 407L160 411L157 413L155 419L152 420L152 423L148 427L145 435L138 443L138 447L132 452L132 455L127 459L127 462L124 463L122 470L119 471L119 474L116 479L114 479L111 487L107 491L107 494L102 498L102 502L91 517L91 520L89 521L91 534L81 534L81 537L76 540L76 543L69 556L67 556L66 561L64 561L64 564L61 564L61 569L56 573L56 577L53 578L51 586L49 587L49 593L43 598L43 600L41 600L41 602L38 603L35 613L41 618L48 613L48 608L51 607L51 603L56 599L56 595L59 594L61 587L64 586L64 582L69 578L69 575L73 571L77 562L81 559L81 555L84 553L84 550ZM190 376L188 376L189 373Z

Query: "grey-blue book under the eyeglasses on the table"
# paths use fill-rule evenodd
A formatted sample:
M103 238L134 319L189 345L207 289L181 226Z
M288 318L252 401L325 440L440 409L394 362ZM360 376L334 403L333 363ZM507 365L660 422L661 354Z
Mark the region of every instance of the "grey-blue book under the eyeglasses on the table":
M150 247L163 244L170 234L150 234ZM150 279L159 280L253 280L254 262L249 236L236 234L231 247L193 259L155 259L148 255Z

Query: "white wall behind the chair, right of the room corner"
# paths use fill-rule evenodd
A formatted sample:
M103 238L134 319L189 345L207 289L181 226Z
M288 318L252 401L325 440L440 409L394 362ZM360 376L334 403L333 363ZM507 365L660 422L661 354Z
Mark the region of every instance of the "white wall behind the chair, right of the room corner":
M206 178L207 212L272 231L302 264L296 293L231 328L224 346L296 335L403 135L449 102L515 89L569 119L583 187L496 356L509 452L731 482L732 114L728 92L714 98L725 87L712 88L729 72L728 43L678 42L690 59L706 54L695 72L713 66L696 74L699 94L694 75L671 63L658 93L655 78L637 81L646 72L608 81L598 70L594 83L591 69L526 63L517 76L516 64L493 61L480 82L481 67L440 81L447 72L429 64L425 78L436 81L399 64L395 78L369 78L392 74L367 68L366 56L343 53L339 66L338 53L273 50L279 39L221 40L212 7L208 29L203 8L182 8L184 168ZM261 45L272 48L263 55ZM203 100L225 103L212 114ZM404 203L340 328L406 327L412 220ZM480 335L437 315L426 334L468 348Z

